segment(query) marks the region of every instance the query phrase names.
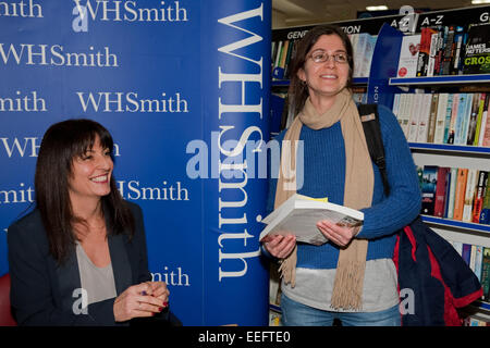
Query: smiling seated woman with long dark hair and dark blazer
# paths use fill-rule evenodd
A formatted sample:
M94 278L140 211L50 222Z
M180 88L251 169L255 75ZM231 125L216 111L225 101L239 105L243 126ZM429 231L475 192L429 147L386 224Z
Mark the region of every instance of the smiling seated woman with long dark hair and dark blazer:
M11 303L20 325L121 325L169 320L169 290L151 282L142 210L112 175L113 142L90 120L46 132L36 208L9 227Z

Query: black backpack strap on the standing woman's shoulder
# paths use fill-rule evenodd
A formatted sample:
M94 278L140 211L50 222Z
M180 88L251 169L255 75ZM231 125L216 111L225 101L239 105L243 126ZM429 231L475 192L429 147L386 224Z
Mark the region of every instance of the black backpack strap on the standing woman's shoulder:
M366 142L369 149L371 160L376 163L383 181L384 194L390 195L390 185L388 183L387 163L384 160L384 146L379 124L379 114L377 104L359 104L359 116L363 123Z

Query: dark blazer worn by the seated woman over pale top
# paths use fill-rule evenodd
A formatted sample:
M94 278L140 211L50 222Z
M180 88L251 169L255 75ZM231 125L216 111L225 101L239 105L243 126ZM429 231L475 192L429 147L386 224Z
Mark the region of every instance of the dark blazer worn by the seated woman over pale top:
M109 251L118 296L131 285L151 281L148 271L142 210L127 202L135 219L135 234L109 236ZM20 325L127 325L115 323L115 298L88 306L88 313L75 314L81 288L76 253L61 266L49 253L49 243L36 209L8 229L11 304ZM167 320L168 311L159 314ZM163 316L163 318L161 318Z

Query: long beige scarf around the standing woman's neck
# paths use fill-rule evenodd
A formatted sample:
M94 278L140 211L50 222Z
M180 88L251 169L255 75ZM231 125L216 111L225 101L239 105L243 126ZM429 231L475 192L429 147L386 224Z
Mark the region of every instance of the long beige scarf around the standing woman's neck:
M302 112L286 132L281 148L281 166L274 209L296 192L296 146L302 126L321 129L332 126L339 120L346 158L344 206L353 209L371 206L375 183L372 164L357 107L351 92L345 88L336 95L333 105L323 114L318 114L308 98ZM324 149L324 151L329 151L329 149ZM318 192L318 196L323 195L324 192ZM362 309L367 245L366 239L353 238L346 247L340 249L331 300L332 308ZM281 260L280 266L284 283L291 283L292 287L295 286L296 252L295 247L287 258Z

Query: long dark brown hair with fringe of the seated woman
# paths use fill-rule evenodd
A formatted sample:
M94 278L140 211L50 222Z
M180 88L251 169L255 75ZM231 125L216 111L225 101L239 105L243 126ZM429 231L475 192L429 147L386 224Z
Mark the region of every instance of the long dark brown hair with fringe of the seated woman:
M113 150L110 133L99 123L74 119L51 125L42 137L36 164L36 207L48 235L49 251L61 264L75 245L73 223L79 222L72 210L69 195L69 177L73 160L94 147L97 138L102 148ZM134 234L134 217L119 192L114 176L111 191L101 198L102 214L108 222L108 233Z

